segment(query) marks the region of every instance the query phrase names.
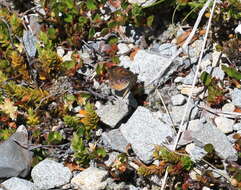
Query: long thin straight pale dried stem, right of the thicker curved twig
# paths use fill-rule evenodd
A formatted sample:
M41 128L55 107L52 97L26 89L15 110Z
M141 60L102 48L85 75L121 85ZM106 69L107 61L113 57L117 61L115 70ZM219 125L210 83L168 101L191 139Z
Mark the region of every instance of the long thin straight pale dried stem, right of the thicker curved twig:
M206 3L205 5L207 5L207 3ZM204 42L203 42L202 49L201 49L201 53L200 53L200 56L199 56L199 59L198 59L198 64L197 64L195 76L194 76L194 79L193 79L191 92L192 92L193 89L194 89L194 86L195 86L195 83L196 83L196 80L197 80L197 77L198 77L198 71L199 71L199 68L200 68L200 64L201 64L201 61L202 61L204 49L205 49L205 46L206 46L206 42L207 42L207 38L208 38L209 29L210 29L210 26L211 26L211 21L212 21L212 17L213 17L215 5L216 5L216 0L214 0L214 2L213 2L213 7L212 7L212 10L211 10L211 15L210 15L209 20L208 20L207 30L206 30L206 33L205 33L205 36L204 36ZM193 32L193 31L192 31L192 32ZM192 32L191 32L191 33L192 33ZM190 37L190 36L189 36L189 37ZM188 37L188 38L189 38L189 37ZM186 44L186 41L185 41L184 44ZM186 44L186 45L187 45L187 44ZM188 106L189 106L189 103L190 103L190 100L191 100L191 95L192 95L192 93L188 96L188 100L187 100L187 103L186 103L185 111L184 111L184 114L183 114L183 117L182 117L181 124L180 124L180 126L179 126L179 130L178 130L178 134L177 134L177 137L176 137L174 146L173 146L173 150L176 149L177 144L178 144L178 141L179 141L179 138L180 138L180 136L181 136L181 134L182 134L183 124L184 124L184 122L185 122L185 118L186 118Z

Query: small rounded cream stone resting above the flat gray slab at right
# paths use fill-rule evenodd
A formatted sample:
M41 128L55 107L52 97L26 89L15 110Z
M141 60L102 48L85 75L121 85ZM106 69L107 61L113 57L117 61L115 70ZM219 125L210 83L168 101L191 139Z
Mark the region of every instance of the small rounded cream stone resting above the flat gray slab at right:
M225 117L216 117L214 120L217 128L223 133L231 133L233 131L234 120Z

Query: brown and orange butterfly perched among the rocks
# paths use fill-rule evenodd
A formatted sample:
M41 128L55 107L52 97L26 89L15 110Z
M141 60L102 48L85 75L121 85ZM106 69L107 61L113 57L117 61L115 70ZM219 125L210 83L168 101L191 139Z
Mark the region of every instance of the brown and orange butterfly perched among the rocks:
M125 90L128 92L137 81L137 77L134 73L119 66L113 66L108 69L108 78L110 87L116 91Z

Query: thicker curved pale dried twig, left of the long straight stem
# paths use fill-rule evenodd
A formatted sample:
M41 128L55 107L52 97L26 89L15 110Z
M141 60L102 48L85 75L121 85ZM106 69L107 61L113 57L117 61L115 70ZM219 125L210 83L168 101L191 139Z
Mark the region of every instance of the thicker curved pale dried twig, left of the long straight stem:
M179 48L178 51L171 57L169 63L167 64L167 65L169 65L169 66L165 69L165 71L160 71L160 72L157 74L157 76L156 76L148 85L151 85L151 84L153 84L155 81L158 81L158 80L167 72L167 70L169 70L169 69L173 66L173 64L174 64L173 61L176 59L176 57L177 57L181 52L183 52L183 50L185 50L185 49L187 48L188 44L191 42L193 36L195 35L195 32L196 32L196 30L197 30L197 28L198 28L198 26L199 26L199 23L201 22L201 18L202 18L202 16L203 16L205 10L208 8L210 2L211 2L211 0L208 0L208 1L204 4L203 8L200 10L199 15L198 15L198 18L197 18L197 20L196 20L196 22L195 22L195 24L194 24L194 26L193 26L192 32L190 33L190 35L188 36L188 38L185 40L185 42L184 42L184 44L182 45L182 47Z

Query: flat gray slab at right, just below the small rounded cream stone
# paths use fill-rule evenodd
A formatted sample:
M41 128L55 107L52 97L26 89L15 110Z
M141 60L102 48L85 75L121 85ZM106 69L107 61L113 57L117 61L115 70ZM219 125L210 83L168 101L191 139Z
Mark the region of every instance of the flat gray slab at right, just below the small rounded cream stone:
M210 123L206 123L198 131L192 131L191 136L196 145L202 147L206 144L212 144L221 158L230 161L237 160L237 151L233 148L226 135Z

